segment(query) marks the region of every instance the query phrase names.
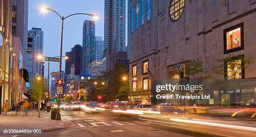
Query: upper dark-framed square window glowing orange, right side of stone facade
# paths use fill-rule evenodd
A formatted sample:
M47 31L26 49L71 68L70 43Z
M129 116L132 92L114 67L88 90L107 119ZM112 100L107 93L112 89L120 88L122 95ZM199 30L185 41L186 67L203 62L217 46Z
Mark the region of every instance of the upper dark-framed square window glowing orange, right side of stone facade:
M243 50L243 23L224 30L224 54Z

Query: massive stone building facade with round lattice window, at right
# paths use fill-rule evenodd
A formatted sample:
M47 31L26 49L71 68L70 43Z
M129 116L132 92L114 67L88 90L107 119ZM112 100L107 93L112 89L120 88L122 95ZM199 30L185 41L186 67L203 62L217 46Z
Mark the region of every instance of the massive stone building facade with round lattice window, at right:
M151 99L146 67L158 79L179 78L177 62L201 60L224 78L212 73L217 59L256 58L256 0L130 0L130 7L131 100ZM237 78L256 77L255 67Z

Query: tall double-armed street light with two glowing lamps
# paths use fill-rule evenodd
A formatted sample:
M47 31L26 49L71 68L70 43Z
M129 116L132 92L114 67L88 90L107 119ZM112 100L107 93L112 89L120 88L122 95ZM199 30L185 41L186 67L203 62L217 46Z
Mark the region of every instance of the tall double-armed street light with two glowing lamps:
M48 8L48 7L41 7L42 12L46 12L47 10L51 10L51 11L55 12L61 18L61 21L62 21L62 23L61 23L61 47L60 47L60 60L59 60L59 72L60 72L59 77L61 77L61 57L62 57L62 40L63 40L63 23L64 23L64 20L67 17L73 16L73 15L89 15L90 17L93 17L93 19L98 19L99 16L95 15L95 14L76 13L76 14L69 15L67 17L63 17L63 16L61 17L61 15L59 15L58 12L56 12L56 11L54 11L54 10ZM59 103L60 103L59 99L60 99L60 95L58 94L58 102L57 102L58 106L59 106ZM61 120L61 114L59 113L59 107L57 107L56 120Z

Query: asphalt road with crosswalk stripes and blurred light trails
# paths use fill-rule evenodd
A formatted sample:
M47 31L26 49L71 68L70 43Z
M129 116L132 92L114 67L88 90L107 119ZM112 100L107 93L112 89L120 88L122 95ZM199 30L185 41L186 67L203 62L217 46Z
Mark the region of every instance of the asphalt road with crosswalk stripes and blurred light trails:
M62 110L61 117L73 122L74 126L41 134L19 134L17 137L253 137L256 135L256 128L253 126L256 125L255 121L223 117L163 117L151 114L124 114L111 110L100 110L95 113ZM195 120L202 123L195 123Z

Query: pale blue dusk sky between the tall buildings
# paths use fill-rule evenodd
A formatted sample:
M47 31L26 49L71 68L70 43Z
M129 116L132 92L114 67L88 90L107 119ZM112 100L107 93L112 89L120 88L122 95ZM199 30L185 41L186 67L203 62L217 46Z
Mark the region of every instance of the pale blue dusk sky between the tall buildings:
M100 16L95 20L95 36L104 39L104 0L30 0L28 6L28 30L32 27L42 28L44 31L44 56L54 57L60 55L61 19L51 11L42 13L41 6L49 7L61 16L74 13L89 13ZM93 20L87 15L74 15L64 20L63 52L71 50L74 45L82 45L82 27L84 20ZM65 61L62 60L62 70ZM59 70L58 62L50 62L50 72ZM48 62L45 64L45 77L48 73Z

